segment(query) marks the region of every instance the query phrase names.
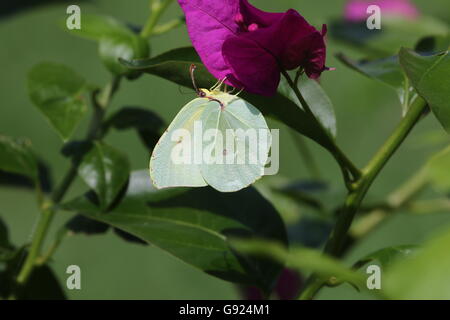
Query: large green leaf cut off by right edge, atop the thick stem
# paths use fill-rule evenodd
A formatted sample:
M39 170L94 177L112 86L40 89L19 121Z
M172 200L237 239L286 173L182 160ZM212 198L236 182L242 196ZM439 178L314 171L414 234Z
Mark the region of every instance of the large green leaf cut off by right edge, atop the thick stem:
M400 50L400 64L419 95L428 102L442 126L450 133L450 56L448 51L420 56Z

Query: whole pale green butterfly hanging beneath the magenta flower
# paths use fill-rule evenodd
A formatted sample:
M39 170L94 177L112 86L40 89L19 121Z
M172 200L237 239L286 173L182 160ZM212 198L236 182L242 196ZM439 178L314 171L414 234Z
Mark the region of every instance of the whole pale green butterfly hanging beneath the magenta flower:
M221 91L223 81L185 105L156 144L150 176L156 188L243 189L264 174L272 143L267 123L250 103Z

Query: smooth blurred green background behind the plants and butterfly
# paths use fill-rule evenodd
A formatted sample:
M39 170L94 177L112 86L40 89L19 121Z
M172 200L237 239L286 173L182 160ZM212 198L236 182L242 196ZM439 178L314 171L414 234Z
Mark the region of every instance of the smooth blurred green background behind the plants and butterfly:
M297 9L316 26L342 15L344 0L253 0L256 6L273 11ZM448 19L448 0L415 1L423 13ZM72 2L71 4L77 4ZM67 64L90 82L105 84L110 76L100 63L94 42L79 39L64 32L58 21L65 19L67 3L42 5L0 20L0 133L30 137L34 149L51 165L55 181L68 167L60 154L62 142L48 126L28 99L26 76L30 68L41 61ZM95 0L78 3L83 13L99 13L141 25L148 15L147 0ZM181 15L177 4L172 5L164 19ZM447 16L445 16L447 15ZM163 20L164 20L163 19ZM152 39L152 55L190 45L185 27ZM322 77L322 84L335 105L338 121L338 142L350 158L362 166L386 139L401 109L394 91L371 81L340 64L333 54L345 52L351 57L360 55L353 49L328 42L327 65L336 67ZM187 89L153 76L137 81L124 81L114 98L111 110L121 106L142 106L160 114L169 123L193 93ZM83 123L78 133L86 128ZM280 176L309 177L298 155L288 129L270 121L281 132ZM107 141L128 154L133 169L146 168L149 154L132 131L113 132ZM430 143L438 141L440 143ZM376 201L392 191L419 168L428 155L438 150L447 137L433 117L422 121L411 137L387 165L371 189L368 200ZM323 177L344 195L338 167L332 158L313 143L309 143L320 165ZM84 190L81 182L71 188L66 199ZM245 214L243 212L242 214ZM0 215L10 227L16 245L30 240L38 210L34 194L24 189L0 187ZM70 215L61 212L52 231ZM442 227L450 225L448 212L423 216L396 213L375 233L358 244L349 254L354 261L368 251L390 245L421 243ZM151 246L130 244L108 233L100 236L69 237L54 255L52 268L62 283L66 281L68 265L81 267L82 289L67 290L71 299L233 299L239 298L233 284L213 278L176 258ZM64 286L65 287L65 286ZM350 287L324 289L319 298L367 298Z

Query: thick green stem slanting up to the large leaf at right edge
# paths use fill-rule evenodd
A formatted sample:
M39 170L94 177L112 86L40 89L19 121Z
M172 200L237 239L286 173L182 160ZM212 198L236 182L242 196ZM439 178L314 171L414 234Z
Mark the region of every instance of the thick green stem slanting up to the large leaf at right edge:
M367 191L384 165L392 157L401 143L411 132L414 125L418 122L425 107L426 103L423 99L418 98L415 100L410 106L408 113L401 120L392 135L386 140L369 164L364 168L361 178L355 184L355 189L350 191L347 195L336 225L334 226L327 244L325 245L325 254L332 256L338 256L340 254L350 225L365 195L367 194ZM312 299L320 288L322 288L325 282L326 279L320 278L316 274L311 275L306 283L305 290L300 295L300 299Z

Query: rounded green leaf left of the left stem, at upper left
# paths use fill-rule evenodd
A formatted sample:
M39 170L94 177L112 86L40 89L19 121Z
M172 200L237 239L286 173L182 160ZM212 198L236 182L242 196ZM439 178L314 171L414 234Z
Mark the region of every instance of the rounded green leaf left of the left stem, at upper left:
M71 136L87 110L82 97L85 89L85 80L62 64L41 63L28 75L31 101L63 140Z

